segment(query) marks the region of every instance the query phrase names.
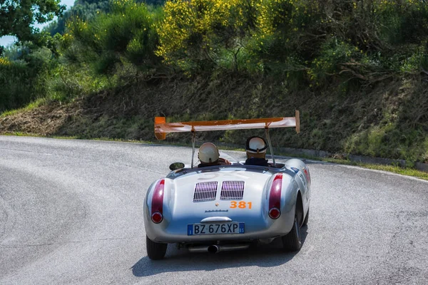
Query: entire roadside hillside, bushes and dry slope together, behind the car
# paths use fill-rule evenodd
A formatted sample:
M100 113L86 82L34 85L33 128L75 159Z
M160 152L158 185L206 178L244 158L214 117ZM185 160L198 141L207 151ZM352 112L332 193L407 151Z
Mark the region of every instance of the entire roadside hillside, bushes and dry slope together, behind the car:
M302 133L272 130L275 146L428 162L424 1L122 0L91 13L43 50L0 58L1 133L153 140L156 115L297 109ZM19 68L31 70L26 89ZM253 132L199 140L243 145Z

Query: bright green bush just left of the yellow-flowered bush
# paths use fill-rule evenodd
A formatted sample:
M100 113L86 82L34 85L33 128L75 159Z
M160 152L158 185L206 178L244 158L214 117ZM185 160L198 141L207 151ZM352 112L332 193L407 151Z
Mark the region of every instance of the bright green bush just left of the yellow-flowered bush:
M62 37L67 58L92 63L97 73L113 73L126 62L143 71L153 68L158 61L156 13L128 0L113 1L110 9L110 14L99 13L90 21L76 16L68 22Z

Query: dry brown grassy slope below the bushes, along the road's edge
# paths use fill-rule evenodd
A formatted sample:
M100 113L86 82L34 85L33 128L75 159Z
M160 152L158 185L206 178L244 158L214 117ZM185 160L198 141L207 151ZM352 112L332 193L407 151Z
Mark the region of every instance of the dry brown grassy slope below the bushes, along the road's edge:
M172 121L290 116L300 110L302 133L272 130L275 147L300 147L373 157L428 160L424 127L427 83L392 78L370 90L343 94L287 90L284 82L225 76L171 78L103 90L60 105L52 102L1 118L0 132L67 135L76 138L154 140L153 118ZM414 102L418 102L415 105ZM199 141L244 145L253 133L240 130L198 134ZM188 134L168 141L189 142Z

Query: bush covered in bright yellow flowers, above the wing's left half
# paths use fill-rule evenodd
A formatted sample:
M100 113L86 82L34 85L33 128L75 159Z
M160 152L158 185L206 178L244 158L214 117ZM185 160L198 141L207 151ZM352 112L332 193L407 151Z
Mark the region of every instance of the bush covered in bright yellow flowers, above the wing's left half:
M160 45L156 54L183 69L222 64L245 47L255 27L256 0L170 0L158 25ZM226 58L220 54L228 53Z

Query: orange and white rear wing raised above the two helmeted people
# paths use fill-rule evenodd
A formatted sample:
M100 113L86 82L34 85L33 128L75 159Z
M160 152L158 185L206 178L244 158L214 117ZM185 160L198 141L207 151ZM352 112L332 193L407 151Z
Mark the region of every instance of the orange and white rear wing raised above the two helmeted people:
M243 120L204 120L194 122L166 123L165 117L155 117L155 136L165 140L167 133L201 132L207 130L246 130L294 127L300 133L300 113L295 117Z

